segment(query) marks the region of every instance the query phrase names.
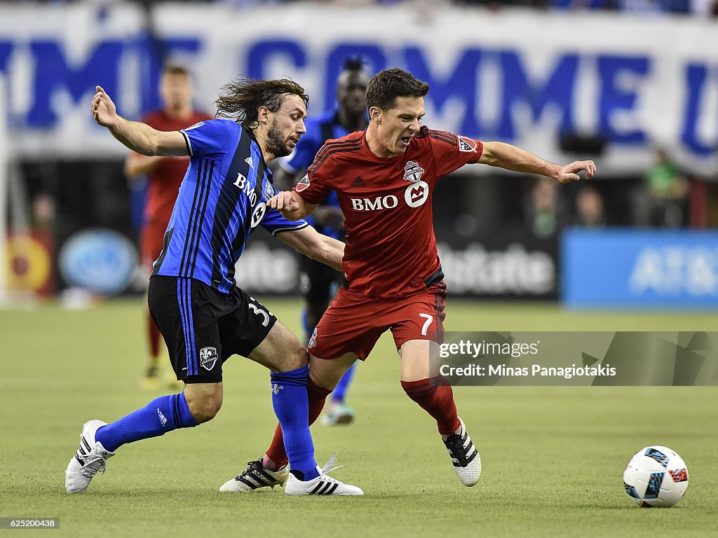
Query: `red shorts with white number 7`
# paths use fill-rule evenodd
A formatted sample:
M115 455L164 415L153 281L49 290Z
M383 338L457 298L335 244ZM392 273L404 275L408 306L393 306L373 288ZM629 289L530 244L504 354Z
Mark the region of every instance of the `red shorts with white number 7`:
M444 341L447 288L441 280L421 293L370 298L340 288L309 341L309 353L336 359L354 353L365 360L387 329L399 349L409 340Z

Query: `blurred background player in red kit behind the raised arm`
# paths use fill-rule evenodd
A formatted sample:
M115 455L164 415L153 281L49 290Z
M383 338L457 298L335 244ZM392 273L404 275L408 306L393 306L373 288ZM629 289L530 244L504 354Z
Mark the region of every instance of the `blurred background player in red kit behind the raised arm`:
M180 129L211 120L212 116L192 109L192 80L190 73L180 65L167 65L159 80L159 97L162 109L151 112L142 122L158 131L180 131ZM134 181L146 174L147 191L144 215L140 230L140 257L147 277L152 272L152 263L162 252L162 237L172 215L177 191L185 177L189 157L159 157L131 153L125 161L125 176ZM159 384L157 368L162 335L159 334L149 311L146 316L149 341L149 364L142 384L156 388Z

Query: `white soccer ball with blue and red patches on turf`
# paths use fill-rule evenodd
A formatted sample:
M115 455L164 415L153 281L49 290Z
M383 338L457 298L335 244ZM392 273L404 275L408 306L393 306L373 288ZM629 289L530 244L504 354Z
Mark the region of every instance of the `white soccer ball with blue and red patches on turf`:
M688 489L688 468L670 448L647 446L630 458L623 471L623 484L638 506L673 506Z

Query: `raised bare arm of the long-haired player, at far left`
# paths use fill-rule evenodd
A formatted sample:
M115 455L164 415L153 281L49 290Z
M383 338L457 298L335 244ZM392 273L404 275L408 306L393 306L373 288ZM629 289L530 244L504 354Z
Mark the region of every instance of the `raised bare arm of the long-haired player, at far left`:
M132 151L143 155L185 156L187 143L180 131L157 131L146 123L128 121L117 113L113 103L101 86L96 86L92 100L93 118L103 127L108 128L112 136Z

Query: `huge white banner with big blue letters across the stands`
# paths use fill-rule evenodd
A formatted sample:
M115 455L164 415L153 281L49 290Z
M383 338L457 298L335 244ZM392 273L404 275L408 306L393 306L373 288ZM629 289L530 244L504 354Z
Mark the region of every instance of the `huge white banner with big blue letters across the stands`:
M429 82L428 125L551 161L573 157L561 151L565 133L607 141L603 174L645 169L656 143L708 174L718 148L718 31L698 17L493 12L442 2L419 11L410 2L153 5L3 5L0 78L13 154L123 155L90 116L95 85L122 115L139 118L159 104L167 60L190 67L205 110L225 82L248 75L292 77L317 115L334 104L337 74L352 55L371 72L402 67Z

